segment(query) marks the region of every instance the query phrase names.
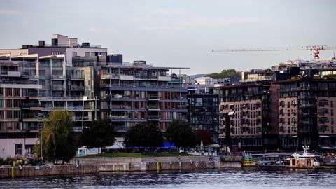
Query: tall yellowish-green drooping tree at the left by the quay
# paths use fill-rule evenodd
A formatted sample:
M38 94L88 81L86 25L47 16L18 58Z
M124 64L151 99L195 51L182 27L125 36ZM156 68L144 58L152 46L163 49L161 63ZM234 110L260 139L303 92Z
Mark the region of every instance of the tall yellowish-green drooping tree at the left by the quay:
M69 162L77 150L73 136L72 113L52 111L45 121L45 127L41 131L40 137L45 160Z

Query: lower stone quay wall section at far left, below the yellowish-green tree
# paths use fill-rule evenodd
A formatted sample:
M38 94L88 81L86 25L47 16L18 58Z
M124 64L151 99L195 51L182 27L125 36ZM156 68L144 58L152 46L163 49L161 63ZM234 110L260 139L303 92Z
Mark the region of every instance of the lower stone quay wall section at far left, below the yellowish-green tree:
M0 179L94 173L99 173L99 167L94 164L83 164L78 166L67 164L52 166L0 167Z

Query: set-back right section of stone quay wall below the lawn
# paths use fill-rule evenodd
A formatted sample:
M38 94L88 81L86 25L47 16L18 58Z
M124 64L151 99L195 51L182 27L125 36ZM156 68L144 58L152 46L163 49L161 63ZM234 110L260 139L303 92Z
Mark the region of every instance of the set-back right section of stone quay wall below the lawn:
M240 167L241 157L227 158L221 162L219 156L185 156L153 158L75 158L74 163L97 164L101 172L163 171L178 169L216 169Z

